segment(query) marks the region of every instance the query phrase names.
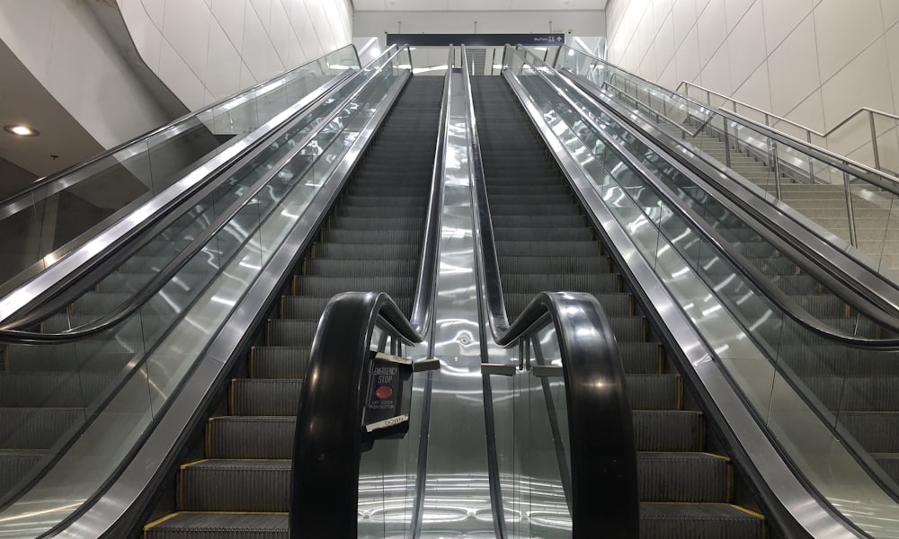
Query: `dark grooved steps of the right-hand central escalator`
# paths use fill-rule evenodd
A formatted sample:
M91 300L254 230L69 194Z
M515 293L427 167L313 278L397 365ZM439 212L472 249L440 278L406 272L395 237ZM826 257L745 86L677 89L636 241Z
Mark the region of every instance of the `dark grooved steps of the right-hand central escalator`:
M729 458L707 452L703 414L511 89L502 77L472 86L510 319L546 289L590 292L610 315L634 408L641 535L763 537L764 518L734 505Z

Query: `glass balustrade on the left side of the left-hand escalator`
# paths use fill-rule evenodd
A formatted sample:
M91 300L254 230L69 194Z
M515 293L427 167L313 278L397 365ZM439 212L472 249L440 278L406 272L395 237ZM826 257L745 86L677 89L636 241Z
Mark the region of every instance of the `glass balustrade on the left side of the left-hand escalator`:
M25 407L0 403L0 454L6 449L28 450L22 473L3 485L8 495L0 500L0 535L13 529L40 535L76 510L120 465L322 189L329 179L326 174L343 160L349 146L344 142L358 137L363 125L355 116L370 119L395 80L392 67L366 71L317 110L317 119L300 122L288 137L273 141L263 155L124 261L119 271L46 321L42 331L79 327L110 313L254 183L271 174L276 163L289 159L292 166L273 174L156 296L124 322L75 344L6 347L0 384L33 398L21 401L31 403ZM364 81L369 84L358 100L343 103ZM324 147L303 153L307 146L299 143L331 112L335 119L307 144ZM354 130L347 131L344 123ZM342 144L334 144L337 140ZM14 483L21 481L21 489L28 478L43 473L30 490L13 489Z

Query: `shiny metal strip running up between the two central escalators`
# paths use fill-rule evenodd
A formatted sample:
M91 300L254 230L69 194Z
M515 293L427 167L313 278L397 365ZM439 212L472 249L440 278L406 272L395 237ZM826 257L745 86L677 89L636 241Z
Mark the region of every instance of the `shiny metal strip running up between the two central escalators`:
M450 78L431 437L421 537L495 537L486 474L471 184L461 75Z

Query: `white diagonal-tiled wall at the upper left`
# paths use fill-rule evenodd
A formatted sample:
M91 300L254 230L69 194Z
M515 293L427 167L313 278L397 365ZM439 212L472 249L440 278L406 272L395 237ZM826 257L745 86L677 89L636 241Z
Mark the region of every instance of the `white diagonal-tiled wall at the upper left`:
M351 41L349 0L117 0L138 52L191 110Z

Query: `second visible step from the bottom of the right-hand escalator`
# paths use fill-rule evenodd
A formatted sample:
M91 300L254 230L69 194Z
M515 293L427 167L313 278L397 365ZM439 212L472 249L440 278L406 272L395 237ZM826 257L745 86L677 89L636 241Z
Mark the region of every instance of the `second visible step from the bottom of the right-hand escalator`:
M641 501L730 501L730 459L708 453L637 453Z

